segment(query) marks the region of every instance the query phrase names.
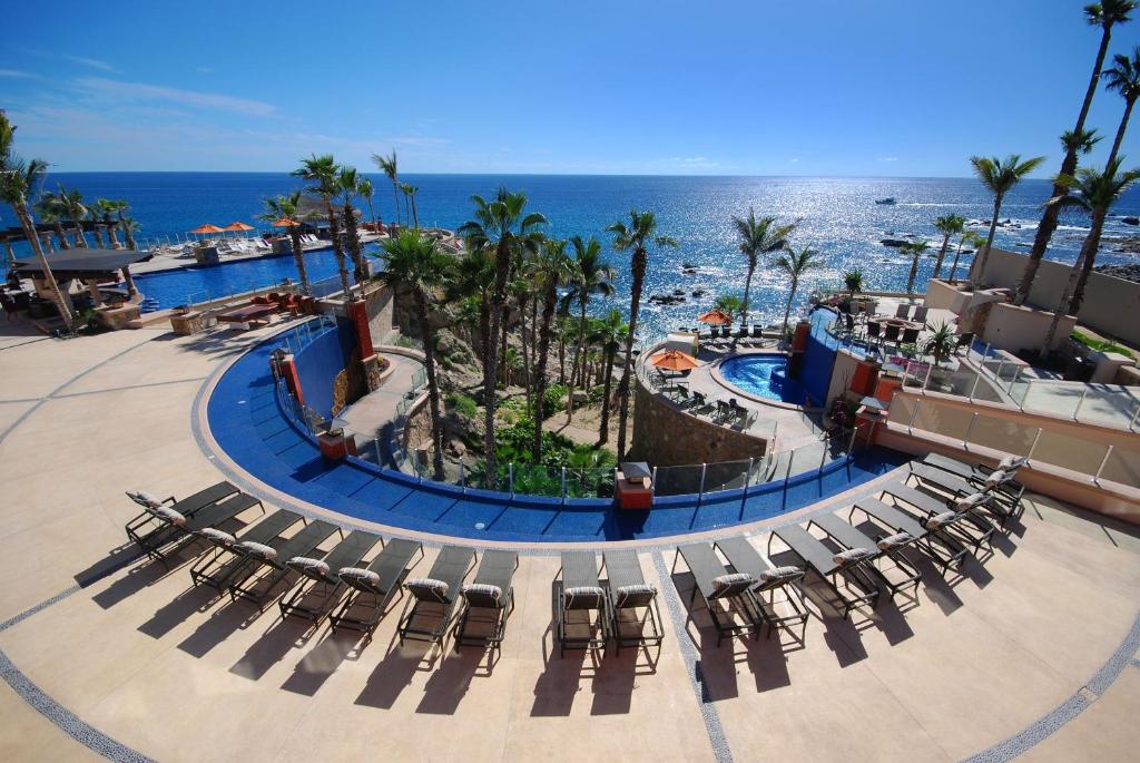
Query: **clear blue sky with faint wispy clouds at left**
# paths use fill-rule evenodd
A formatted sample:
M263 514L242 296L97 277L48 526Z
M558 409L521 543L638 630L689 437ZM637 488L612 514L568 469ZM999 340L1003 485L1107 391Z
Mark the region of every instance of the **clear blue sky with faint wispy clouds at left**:
M0 107L57 171L396 148L404 172L953 177L1019 152L1044 177L1100 39L1082 6L9 3ZM1138 43L1140 14L1112 50ZM1098 92L1105 144L1122 111Z

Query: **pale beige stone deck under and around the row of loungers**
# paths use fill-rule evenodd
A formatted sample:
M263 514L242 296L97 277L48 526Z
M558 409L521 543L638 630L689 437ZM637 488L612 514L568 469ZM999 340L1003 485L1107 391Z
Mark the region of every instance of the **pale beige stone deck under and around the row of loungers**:
M604 658L557 657L553 549L521 550L494 660L399 647L402 602L360 643L211 600L185 561L130 561L123 490L221 478L195 400L266 331L0 327L3 760L1134 760L1137 530L1041 496L984 565L945 581L920 567L915 602L853 623L821 604L803 646L718 648L667 539L636 546L662 647ZM768 526L749 529L762 551ZM438 553L424 539L417 573Z

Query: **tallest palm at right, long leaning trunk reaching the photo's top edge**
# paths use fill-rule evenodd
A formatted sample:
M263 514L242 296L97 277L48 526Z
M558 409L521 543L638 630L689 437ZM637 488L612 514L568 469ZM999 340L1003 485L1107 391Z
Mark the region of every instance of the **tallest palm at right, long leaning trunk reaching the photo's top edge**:
M1085 89L1084 100L1081 102L1081 112L1076 117L1076 127L1069 133L1073 137L1080 137L1085 132L1084 122L1089 116L1092 98L1097 95L1097 82L1100 79L1100 70L1105 65L1105 56L1108 54L1108 41L1113 36L1113 27L1116 24L1126 23L1129 14L1135 7L1137 3L1133 0L1101 0L1100 2L1093 2L1084 7L1085 21L1089 25L1100 27L1100 46L1097 48L1097 58L1092 65L1092 75L1089 78L1089 87ZM1077 153L1081 151L1080 145L1078 140L1066 144L1065 159L1061 160L1061 170L1058 177L1061 174L1072 176L1076 171ZM1051 197L1056 198L1064 193L1065 186L1059 185L1054 180ZM1017 294L1013 299L1016 305L1024 305L1025 300L1029 298L1029 289L1033 285L1034 277L1037 275L1037 267L1045 255L1045 250L1049 249L1049 242L1053 236L1053 232L1057 230L1057 216L1059 213L1060 210L1056 204L1045 205L1044 213L1041 216L1041 222L1037 224L1037 232L1033 237L1033 249L1029 250L1025 271L1021 274L1021 281L1017 286Z

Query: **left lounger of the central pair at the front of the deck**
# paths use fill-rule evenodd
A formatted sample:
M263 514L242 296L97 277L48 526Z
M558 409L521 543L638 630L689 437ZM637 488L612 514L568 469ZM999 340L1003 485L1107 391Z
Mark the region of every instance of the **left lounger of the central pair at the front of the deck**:
M597 557L588 551L563 551L553 590L559 656L564 657L567 649L604 649L609 638L608 601L597 577ZM571 623L570 612L586 614L585 635L571 635L571 628L581 624Z

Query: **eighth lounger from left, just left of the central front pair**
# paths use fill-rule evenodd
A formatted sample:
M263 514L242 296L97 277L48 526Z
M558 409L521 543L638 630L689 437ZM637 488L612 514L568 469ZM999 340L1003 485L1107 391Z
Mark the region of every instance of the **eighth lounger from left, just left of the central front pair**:
M463 611L455 626L455 648L496 647L503 642L506 620L514 610L514 551L484 551L475 579L461 589ZM481 631L480 628L487 628ZM470 630L469 630L470 628Z

